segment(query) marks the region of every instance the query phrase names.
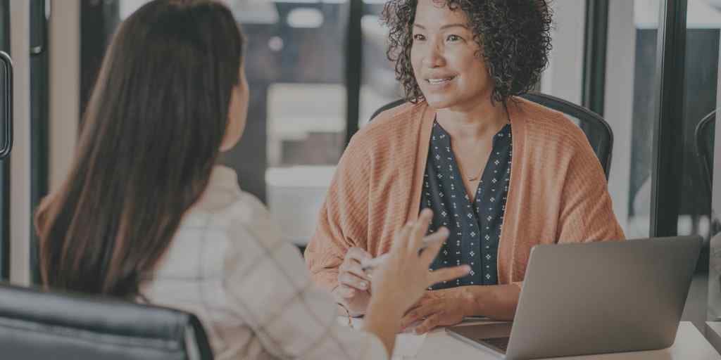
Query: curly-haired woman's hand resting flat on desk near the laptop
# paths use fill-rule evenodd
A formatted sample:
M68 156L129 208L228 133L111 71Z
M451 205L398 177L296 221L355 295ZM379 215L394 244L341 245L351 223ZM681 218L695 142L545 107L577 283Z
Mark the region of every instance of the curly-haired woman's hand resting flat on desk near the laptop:
M427 333L437 326L456 325L468 313L468 295L463 287L425 292L417 304L401 320L401 328L423 320L415 333Z

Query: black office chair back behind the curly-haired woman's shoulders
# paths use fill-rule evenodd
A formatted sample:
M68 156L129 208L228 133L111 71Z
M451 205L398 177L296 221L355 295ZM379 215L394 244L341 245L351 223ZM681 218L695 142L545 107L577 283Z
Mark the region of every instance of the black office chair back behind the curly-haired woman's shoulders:
M598 161L601 162L603 172L606 173L606 179L609 178L609 171L611 171L611 156L614 149L614 132L611 130L611 127L606 120L603 120L601 115L596 114L585 107L580 107L572 102L567 102L564 99L559 99L551 95L530 93L523 94L521 97L523 97L523 99L530 100L531 102L541 104L549 109L554 109L557 112L562 112L569 117L570 120L575 122L575 124L583 130L586 138L588 138L588 143L590 143L591 148L593 148L593 152L596 153ZM373 120L373 118L378 116L381 112L404 103L405 100L401 99L384 105L373 113L371 120Z

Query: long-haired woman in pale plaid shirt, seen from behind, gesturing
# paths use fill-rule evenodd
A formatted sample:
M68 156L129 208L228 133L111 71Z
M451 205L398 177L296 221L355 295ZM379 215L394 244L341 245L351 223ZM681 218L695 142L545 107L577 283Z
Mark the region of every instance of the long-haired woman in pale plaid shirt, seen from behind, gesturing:
M338 327L296 248L215 165L244 130L243 51L216 1L151 1L120 25L70 174L37 210L43 283L194 312L218 359L384 358L423 289L467 269L428 273L447 232L419 256L427 212L374 274L367 332Z

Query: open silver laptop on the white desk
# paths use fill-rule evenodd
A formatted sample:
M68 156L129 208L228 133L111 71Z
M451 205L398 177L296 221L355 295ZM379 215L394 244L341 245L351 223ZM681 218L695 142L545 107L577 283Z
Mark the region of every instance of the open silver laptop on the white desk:
M513 323L446 330L509 360L668 348L701 244L678 236L534 246Z

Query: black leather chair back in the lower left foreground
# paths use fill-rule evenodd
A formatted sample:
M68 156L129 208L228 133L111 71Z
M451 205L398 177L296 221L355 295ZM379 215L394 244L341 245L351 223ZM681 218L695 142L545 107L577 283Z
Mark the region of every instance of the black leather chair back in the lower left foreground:
M211 360L194 315L0 284L0 359Z

